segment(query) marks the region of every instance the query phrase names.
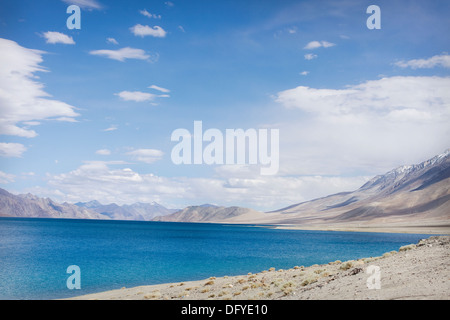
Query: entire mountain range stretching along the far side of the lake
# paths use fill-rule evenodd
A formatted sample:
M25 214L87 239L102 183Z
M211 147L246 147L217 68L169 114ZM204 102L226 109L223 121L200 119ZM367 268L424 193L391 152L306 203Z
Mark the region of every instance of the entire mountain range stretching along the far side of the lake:
M359 189L271 212L210 204L167 209L155 202L59 204L0 189L0 216L172 222L250 223L299 228L450 227L450 149L416 165L378 175Z

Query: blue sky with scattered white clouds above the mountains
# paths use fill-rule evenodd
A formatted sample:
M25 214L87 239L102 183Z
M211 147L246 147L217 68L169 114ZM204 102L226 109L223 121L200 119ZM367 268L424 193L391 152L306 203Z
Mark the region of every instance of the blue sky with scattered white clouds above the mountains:
M355 190L450 147L449 14L447 0L2 0L0 188L261 211ZM172 133L195 121L278 130L278 171L174 163Z

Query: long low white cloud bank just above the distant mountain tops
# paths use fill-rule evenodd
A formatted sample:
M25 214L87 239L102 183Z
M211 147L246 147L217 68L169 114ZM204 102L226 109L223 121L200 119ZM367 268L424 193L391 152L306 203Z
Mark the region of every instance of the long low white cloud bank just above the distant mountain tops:
M138 151L138 150L136 150ZM136 152L146 154L147 152ZM158 154L157 150L148 154ZM342 190L354 190L367 177L280 177L252 175L252 170L233 168L218 170L213 178L161 177L143 174L129 167L115 168L119 162L89 161L68 173L48 176L49 187L59 190L59 201L98 200L102 203L157 201L184 207L195 203L238 205L258 210L274 210L284 206L325 196ZM122 163L123 164L123 163ZM243 173L239 170L244 169ZM46 191L42 196L51 196ZM54 192L53 192L54 193Z

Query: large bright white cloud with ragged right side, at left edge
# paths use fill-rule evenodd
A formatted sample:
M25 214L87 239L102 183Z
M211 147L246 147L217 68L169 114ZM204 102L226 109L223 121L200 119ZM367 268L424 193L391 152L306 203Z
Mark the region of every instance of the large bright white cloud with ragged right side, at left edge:
M27 49L0 38L0 134L32 138L43 120L74 121L75 107L49 99L44 84L36 81L44 52ZM24 124L25 126L22 126Z

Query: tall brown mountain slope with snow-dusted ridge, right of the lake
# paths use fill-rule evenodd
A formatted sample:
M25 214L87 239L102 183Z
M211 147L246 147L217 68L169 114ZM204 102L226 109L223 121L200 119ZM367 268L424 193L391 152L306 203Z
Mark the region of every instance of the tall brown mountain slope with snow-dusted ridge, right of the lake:
M343 192L260 215L248 223L315 227L450 226L450 150Z

